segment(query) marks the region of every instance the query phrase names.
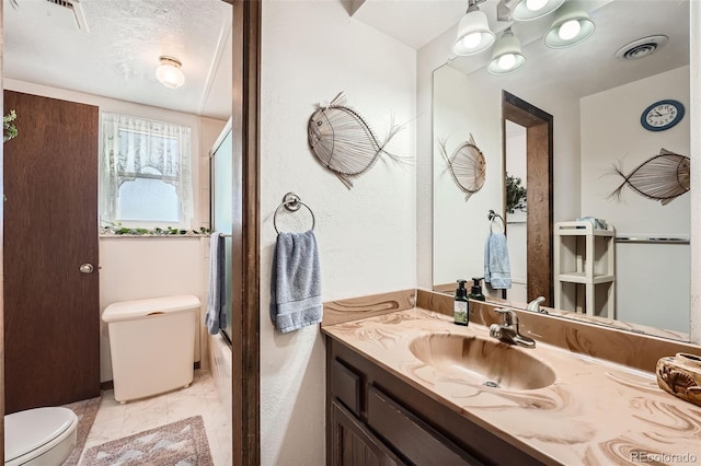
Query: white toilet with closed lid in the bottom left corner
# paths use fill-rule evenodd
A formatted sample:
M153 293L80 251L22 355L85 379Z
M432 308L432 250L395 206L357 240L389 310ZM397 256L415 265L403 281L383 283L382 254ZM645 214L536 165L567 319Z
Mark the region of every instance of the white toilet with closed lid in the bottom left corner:
M78 417L68 408L35 408L4 417L5 466L59 466L76 447Z

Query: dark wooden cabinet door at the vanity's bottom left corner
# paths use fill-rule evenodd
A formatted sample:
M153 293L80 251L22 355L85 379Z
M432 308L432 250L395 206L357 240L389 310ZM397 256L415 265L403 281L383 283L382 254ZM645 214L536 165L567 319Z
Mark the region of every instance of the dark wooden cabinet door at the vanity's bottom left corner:
M343 406L331 403L332 466L390 466L404 464Z

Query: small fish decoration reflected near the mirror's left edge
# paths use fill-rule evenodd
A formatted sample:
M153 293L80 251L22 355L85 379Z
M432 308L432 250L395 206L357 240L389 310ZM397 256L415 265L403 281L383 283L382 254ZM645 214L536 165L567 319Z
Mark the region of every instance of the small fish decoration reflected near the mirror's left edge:
M474 143L474 138L459 144L450 156L448 156L447 140L439 139L438 145L448 170L458 187L464 193L466 202L470 197L482 189L486 178L486 160L484 154Z

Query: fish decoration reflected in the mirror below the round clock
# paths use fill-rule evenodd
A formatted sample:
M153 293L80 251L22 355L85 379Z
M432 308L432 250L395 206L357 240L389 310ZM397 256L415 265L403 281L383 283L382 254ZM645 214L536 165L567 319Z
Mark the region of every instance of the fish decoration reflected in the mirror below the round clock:
M647 159L635 170L625 175L620 161L613 166L613 173L620 175L623 182L609 198L621 200L623 187L629 186L633 191L648 199L658 200L663 206L689 190L691 160L666 149L660 149L657 155Z

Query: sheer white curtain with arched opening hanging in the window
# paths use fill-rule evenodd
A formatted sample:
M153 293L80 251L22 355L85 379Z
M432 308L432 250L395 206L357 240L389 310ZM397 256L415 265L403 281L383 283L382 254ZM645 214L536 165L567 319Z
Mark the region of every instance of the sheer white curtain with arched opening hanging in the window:
M125 182L146 176L159 178L175 188L181 228L192 228L191 132L188 127L103 113L101 221L117 222L119 187Z

